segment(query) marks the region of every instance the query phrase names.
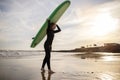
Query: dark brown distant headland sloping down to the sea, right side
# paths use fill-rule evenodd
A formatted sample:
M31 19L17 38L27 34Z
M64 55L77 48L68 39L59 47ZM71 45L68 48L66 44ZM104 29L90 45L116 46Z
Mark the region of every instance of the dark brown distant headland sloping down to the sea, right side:
M95 47L81 47L73 50L59 50L57 52L112 52L120 53L120 44L118 43L104 43L104 46Z

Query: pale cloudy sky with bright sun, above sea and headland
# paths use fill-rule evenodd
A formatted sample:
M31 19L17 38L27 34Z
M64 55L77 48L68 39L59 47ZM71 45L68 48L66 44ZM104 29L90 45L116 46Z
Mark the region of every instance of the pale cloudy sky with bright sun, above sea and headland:
M64 0L0 0L0 49L43 50L44 42L30 48L52 11ZM119 0L70 0L71 5L58 21L54 50L86 45L120 43Z

